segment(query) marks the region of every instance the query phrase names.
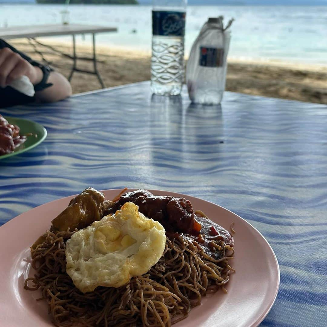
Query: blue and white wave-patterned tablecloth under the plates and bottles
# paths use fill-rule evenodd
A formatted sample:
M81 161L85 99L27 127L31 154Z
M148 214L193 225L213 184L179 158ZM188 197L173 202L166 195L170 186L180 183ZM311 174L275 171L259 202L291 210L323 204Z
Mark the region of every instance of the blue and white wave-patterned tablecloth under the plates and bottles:
M327 326L327 107L226 92L221 107L148 82L2 110L43 144L0 160L0 222L86 187L157 188L218 203L268 240L281 269L262 326ZM227 326L228 327L228 326Z

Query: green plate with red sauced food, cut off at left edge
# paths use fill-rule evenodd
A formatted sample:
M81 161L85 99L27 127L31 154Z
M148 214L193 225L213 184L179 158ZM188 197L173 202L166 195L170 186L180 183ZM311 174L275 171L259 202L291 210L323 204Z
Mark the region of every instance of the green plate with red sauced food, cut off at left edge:
M39 145L47 135L46 129L31 120L23 119L23 118L14 118L14 117L5 117L9 124L17 125L20 128L20 134L26 135L26 134L33 134L31 136L27 136L27 140L25 143L18 146L14 152L0 155L0 159L5 159L8 157L15 156L16 154L21 154L27 150L32 149L33 147Z

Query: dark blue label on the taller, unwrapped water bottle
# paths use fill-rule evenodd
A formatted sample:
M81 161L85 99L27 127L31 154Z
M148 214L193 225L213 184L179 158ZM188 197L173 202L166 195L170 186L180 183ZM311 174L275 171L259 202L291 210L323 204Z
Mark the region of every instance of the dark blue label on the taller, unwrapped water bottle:
M152 11L152 34L164 36L184 36L185 12Z

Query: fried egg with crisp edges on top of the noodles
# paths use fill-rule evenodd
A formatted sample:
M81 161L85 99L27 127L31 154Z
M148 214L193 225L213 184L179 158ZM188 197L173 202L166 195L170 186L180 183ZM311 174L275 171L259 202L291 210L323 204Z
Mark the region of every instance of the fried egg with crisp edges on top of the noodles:
M145 274L165 249L163 226L132 202L74 233L66 243L66 272L83 293L120 287Z

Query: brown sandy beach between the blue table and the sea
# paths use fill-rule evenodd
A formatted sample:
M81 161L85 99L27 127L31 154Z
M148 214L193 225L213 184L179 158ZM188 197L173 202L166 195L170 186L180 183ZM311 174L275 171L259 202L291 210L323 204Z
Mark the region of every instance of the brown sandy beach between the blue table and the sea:
M41 42L53 46L60 52L72 54L70 43L59 43L51 39ZM26 40L10 42L35 60L41 56ZM68 76L73 60L37 45L51 66ZM80 57L91 56L91 46L77 45ZM97 47L98 70L106 87L148 80L150 78L150 54L123 48ZM78 60L78 67L92 69L92 62ZM72 79L74 93L101 88L93 75L74 73ZM298 64L282 61L245 61L234 58L228 60L228 91L265 95L292 100L327 104L327 66Z

